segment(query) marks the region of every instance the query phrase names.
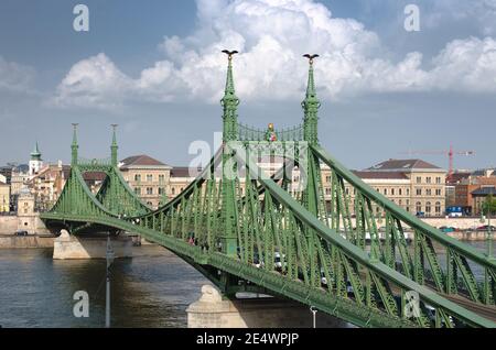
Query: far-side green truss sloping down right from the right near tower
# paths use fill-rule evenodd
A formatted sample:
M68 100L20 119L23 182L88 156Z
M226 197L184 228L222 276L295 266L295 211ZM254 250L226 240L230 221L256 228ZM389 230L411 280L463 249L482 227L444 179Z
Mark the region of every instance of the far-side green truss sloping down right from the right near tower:
M332 172L333 199L331 208L325 206L322 221L335 229L343 225L346 238L363 249L368 237L371 254L376 259L420 284L429 278L440 293L468 297L475 303L495 304L494 260L407 212L366 185L322 147L314 147L313 152ZM346 194L345 182L356 192L354 203ZM386 232L382 241L374 208L384 212ZM352 209L356 227L352 226ZM414 232L413 250L409 249L405 239L406 226ZM441 253L445 255L444 261L440 259ZM429 270L428 274L425 270ZM478 278L475 271L479 272Z

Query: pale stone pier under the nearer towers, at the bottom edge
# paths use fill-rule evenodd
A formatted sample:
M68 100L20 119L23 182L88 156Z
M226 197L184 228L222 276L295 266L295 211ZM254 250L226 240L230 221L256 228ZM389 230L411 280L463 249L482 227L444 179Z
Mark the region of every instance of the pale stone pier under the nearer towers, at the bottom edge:
M187 309L188 328L312 328L310 307L273 297L227 299L212 285L202 287L200 299ZM317 328L353 327L324 313Z

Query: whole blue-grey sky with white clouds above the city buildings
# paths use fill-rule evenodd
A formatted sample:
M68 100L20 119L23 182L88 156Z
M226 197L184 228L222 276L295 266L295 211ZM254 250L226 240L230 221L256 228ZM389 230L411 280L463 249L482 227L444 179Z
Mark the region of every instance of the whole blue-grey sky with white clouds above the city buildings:
M89 9L76 32L73 9ZM405 29L419 8L420 31ZM0 164L149 154L187 165L192 142L222 131L226 57L239 121L301 123L315 61L323 146L351 168L409 151L475 151L457 168L496 166L496 0L1 0ZM414 155L448 167L445 155Z

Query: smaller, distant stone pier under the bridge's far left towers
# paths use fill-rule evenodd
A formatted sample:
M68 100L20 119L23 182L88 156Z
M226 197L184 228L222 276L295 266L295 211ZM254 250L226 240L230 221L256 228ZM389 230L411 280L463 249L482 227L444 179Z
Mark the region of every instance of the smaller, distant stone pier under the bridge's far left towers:
M132 258L132 238L117 236L110 238L115 258ZM106 259L107 237L71 236L66 230L54 241L54 260Z

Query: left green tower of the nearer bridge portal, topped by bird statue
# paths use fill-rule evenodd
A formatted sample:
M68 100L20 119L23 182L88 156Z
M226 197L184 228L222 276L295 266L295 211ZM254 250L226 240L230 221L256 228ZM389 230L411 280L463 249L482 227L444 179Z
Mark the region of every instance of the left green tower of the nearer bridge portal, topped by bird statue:
M237 217L236 217L236 162L231 151L228 151L227 144L236 141L238 138L238 105L239 99L236 96L233 77L233 56L236 51L224 51L228 56L227 78L224 97L220 100L223 106L223 176L222 176L222 217L223 232L222 244L223 252L229 256L237 256Z

